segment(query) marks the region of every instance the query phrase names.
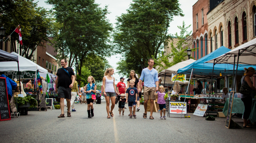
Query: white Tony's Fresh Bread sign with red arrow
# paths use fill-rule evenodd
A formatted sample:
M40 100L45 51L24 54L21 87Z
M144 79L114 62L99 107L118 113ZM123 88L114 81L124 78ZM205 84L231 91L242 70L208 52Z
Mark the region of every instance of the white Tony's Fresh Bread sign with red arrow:
M183 108L183 111L182 111ZM170 114L187 114L187 102L169 102L169 113Z

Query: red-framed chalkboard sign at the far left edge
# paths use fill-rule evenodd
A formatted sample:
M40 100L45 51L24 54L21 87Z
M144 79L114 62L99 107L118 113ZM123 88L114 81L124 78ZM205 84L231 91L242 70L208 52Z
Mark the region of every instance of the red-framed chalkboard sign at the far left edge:
M6 78L0 77L0 121L10 120Z

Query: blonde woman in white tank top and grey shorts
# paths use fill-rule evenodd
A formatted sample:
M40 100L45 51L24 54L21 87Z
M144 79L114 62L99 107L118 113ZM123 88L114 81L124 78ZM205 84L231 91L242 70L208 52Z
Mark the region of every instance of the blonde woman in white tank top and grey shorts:
M107 118L111 118L114 116L113 114L113 109L115 107L115 102L116 102L116 94L117 91L116 91L116 88L115 88L115 78L112 77L112 75L114 74L114 69L113 68L108 68L106 69L105 71L105 76L103 77L103 83L102 83L102 86L103 86L103 94L104 94L104 97L106 99L106 103L107 103ZM111 100L111 110L109 110L109 103L110 103L110 100ZM110 117L111 116L111 117Z

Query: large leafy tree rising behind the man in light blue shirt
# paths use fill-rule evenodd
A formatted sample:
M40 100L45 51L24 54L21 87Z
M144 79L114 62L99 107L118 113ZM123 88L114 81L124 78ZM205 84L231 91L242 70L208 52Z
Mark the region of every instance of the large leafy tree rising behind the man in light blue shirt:
M183 16L179 6L178 0L133 0L127 13L117 18L113 37L126 66L140 73L151 56L157 58L170 37L173 16Z

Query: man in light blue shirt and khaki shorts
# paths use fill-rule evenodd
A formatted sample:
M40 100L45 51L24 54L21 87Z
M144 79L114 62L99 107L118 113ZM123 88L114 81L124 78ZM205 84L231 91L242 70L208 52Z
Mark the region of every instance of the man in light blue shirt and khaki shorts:
M154 100L156 100L155 92L158 91L158 73L156 69L153 68L154 60L149 59L147 62L149 67L145 68L141 72L140 83L138 87L138 92L140 92L140 86L142 85L142 81L144 79L144 109L145 112L143 114L143 118L147 118L147 101L150 98L150 116L149 119L154 119L153 108L154 108Z

